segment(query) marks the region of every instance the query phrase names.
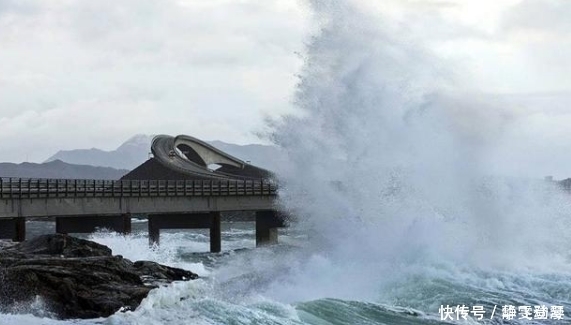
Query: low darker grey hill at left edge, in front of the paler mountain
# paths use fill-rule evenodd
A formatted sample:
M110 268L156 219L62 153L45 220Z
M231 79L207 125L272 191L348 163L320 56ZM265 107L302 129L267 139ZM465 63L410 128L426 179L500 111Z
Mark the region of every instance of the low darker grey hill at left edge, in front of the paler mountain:
M124 169L68 164L61 160L43 164L0 163L0 177L119 179L128 172Z

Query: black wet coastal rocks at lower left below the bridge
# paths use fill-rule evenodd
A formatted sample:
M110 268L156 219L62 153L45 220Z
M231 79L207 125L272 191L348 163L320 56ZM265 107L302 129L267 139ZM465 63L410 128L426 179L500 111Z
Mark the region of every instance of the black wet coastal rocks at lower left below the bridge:
M131 262L67 235L44 235L0 250L0 311L40 297L58 318L107 317L135 309L150 290L192 280L190 271Z

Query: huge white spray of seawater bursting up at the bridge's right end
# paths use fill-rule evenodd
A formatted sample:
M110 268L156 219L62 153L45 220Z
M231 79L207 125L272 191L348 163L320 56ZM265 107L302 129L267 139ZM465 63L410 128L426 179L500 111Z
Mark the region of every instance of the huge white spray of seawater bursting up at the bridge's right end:
M435 301L491 302L513 285L502 301L523 302L543 281L569 283L569 195L490 174L504 125L488 120L493 107L458 95L438 60L357 1L311 7L321 28L300 75L300 113L274 121L271 138L290 159L283 203L310 229L313 251L267 294L436 312Z

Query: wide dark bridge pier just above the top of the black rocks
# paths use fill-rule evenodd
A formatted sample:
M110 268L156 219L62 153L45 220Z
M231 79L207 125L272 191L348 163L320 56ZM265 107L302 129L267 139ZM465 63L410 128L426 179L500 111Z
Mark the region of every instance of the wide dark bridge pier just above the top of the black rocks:
M56 233L91 233L106 228L122 234L131 232L131 215L56 217Z

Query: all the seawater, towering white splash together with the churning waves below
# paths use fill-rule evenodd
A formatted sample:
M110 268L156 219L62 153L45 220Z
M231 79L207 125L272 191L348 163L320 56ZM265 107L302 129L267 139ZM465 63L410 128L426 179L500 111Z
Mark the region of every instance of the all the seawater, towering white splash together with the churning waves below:
M254 248L247 223L224 225L220 254L204 253L200 231L163 232L155 248L144 223L126 237L96 233L115 254L201 279L106 319L53 320L38 300L0 324L571 324L571 195L498 174L491 162L518 163L497 155L501 114L364 3L308 2L318 28L298 112L269 121L266 135L288 156L276 171L295 220L279 245ZM485 313L440 313L457 305ZM504 319L504 306L564 316Z

